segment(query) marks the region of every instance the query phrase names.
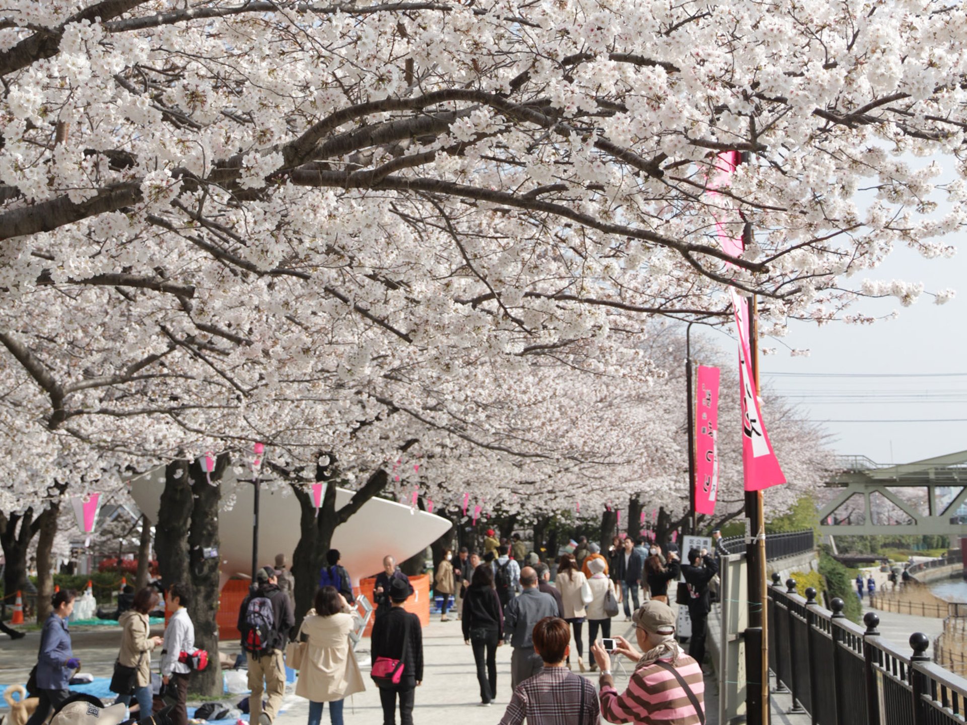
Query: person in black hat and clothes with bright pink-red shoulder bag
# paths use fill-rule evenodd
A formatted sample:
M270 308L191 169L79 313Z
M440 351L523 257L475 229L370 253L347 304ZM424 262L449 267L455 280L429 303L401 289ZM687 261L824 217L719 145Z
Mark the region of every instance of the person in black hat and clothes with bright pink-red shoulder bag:
M388 577L386 594L390 600L389 611L373 624L369 650L373 662L379 657L389 657L403 663L398 684L385 679L376 681L383 706L383 722L396 722L398 696L401 725L413 725L415 690L423 683L423 629L420 627L420 618L403 608L412 593L413 587L408 579Z

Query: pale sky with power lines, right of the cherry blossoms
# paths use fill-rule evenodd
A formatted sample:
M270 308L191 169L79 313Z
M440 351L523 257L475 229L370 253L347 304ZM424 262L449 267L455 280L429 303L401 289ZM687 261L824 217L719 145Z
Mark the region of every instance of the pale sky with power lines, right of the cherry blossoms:
M804 418L828 420L836 452L907 463L967 449L967 249L958 237L945 241L960 247L952 259L897 248L854 281L920 281L927 292L956 290L951 302L933 304L926 294L910 307L896 298L862 301L854 311L880 316L895 309L899 317L868 326L794 322L781 342L760 343L777 349L760 357L763 387L800 403ZM723 333L706 334L734 353ZM782 342L810 350L809 357L791 357ZM768 394L765 400L768 425Z

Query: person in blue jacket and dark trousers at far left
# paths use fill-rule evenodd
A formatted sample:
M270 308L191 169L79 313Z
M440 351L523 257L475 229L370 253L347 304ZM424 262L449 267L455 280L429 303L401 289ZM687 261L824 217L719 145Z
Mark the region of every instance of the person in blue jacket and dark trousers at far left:
M73 612L75 594L70 590L57 592L50 598L53 611L44 622L41 632L41 649L37 653L37 710L27 720L27 725L41 725L50 714L70 697L68 681L71 673L80 667L80 661L71 651L71 632L67 621Z

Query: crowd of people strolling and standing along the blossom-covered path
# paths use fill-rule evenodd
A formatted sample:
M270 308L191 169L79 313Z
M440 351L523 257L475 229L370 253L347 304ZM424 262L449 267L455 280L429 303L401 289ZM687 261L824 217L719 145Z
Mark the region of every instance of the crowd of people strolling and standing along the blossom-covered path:
M673 546L666 552L643 539L615 537L606 555L584 537L574 543L556 561L544 562L538 553L526 550L519 536L500 540L490 531L483 556L466 547L455 559L453 552L445 552L433 575L435 594L442 602L440 619L450 620L449 600L454 596L456 618L476 663L480 705L490 706L496 697L496 652L506 645L512 650L513 697L502 725L524 719L530 725L591 725L599 723L600 716L611 722L647 722L641 719L643 713L667 714L669 709L688 715L667 722L691 722L702 709L701 662L709 583L718 571L715 558L704 549L692 550L688 564L680 564ZM241 658L248 667L253 724L272 725L276 720L285 693L286 664L298 670L295 691L309 701L308 725L319 725L327 703L332 725L342 725L344 699L366 689L350 644L358 620L349 572L337 550L328 552L326 561L313 607L298 628L294 580L282 555L275 566L258 569L241 605L237 626ZM676 615L668 597L668 583L680 574L687 582L692 622L688 654L675 641ZM423 633L420 618L405 609L413 586L392 556L383 560L372 594L370 677L379 689L383 722L396 725L398 710L401 725L412 725L416 688L424 679ZM149 614L158 607L161 595L170 616L163 637L158 637L151 635ZM142 722L152 715L155 698L160 696L165 721L188 724L190 674L204 666L196 661L199 651L194 649L189 595L179 584L163 592L149 586L132 594L126 602L130 607L121 614L121 646L111 688L118 695L116 702L132 709L132 717L136 703L136 718ZM32 675L39 707L28 725L42 725L51 710L63 706L70 696L68 681L80 664L72 653L68 626L73 600L73 592L54 595ZM622 603L626 620L635 627L637 649L624 638L611 636L611 619L620 614ZM600 692L571 672L571 637L576 668L580 672L601 669ZM605 648L603 642L613 646ZM161 692L156 692L152 654L159 648ZM636 663L624 695L614 689L612 656ZM678 684L672 681L672 670L681 676ZM669 700L664 694L655 702L649 700L675 687L682 690L676 690L677 699Z

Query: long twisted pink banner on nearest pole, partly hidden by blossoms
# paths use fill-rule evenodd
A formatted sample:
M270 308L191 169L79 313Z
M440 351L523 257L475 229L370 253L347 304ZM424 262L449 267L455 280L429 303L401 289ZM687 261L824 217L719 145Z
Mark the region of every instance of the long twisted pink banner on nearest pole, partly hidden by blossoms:
M739 152L727 151L718 154L716 158L716 173L709 180L708 193L710 196L720 196L719 187L725 185L735 173L739 165ZM734 229L740 225L729 226L723 214L716 215L716 231L722 250L733 257L739 257L744 251L742 236L736 236ZM751 344L748 337L748 300L735 289L729 288L732 297L732 307L735 311L735 324L739 333L739 391L742 401L742 463L747 491L760 491L763 488L785 483L785 476L773 444L769 440L769 433L762 420L762 410L759 406L759 396L755 391L752 376Z

